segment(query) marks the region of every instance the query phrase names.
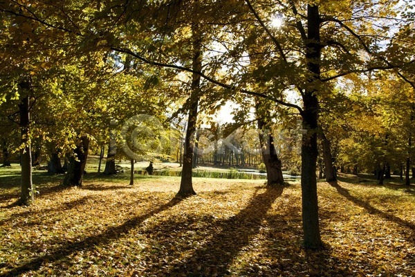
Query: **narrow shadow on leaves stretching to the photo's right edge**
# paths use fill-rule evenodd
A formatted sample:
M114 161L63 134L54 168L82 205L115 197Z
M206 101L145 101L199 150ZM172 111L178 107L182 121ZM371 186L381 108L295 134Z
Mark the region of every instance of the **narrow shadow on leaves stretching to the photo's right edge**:
M349 190L347 190L346 188L343 188L342 186L340 186L338 184L338 181L332 181L329 182L330 186L332 186L333 188L335 188L338 193L340 193L340 195L346 197L349 201L353 202L354 204L365 208L365 210L368 213L371 213L372 215L378 215L382 218L384 218L385 220L388 220L389 222L394 222L397 224L400 224L400 226L404 226L406 228L409 228L411 230L415 229L415 224L413 224L412 222L407 222L399 217L397 217L396 215L391 215L390 213L385 213L384 211L380 211L378 208L375 208L374 206L371 206L369 203L358 199L357 197L354 197L353 195L351 195L349 193Z

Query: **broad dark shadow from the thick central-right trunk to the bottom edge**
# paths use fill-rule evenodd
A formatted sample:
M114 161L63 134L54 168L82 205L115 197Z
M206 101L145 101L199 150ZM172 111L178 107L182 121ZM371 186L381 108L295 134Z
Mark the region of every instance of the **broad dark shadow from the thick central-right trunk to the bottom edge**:
M223 276L229 274L232 260L250 244L253 236L259 233L262 221L283 188L267 188L265 193L255 195L246 208L228 220L218 220L210 225L220 233L212 236L203 247L196 249L192 256L176 262L166 276ZM220 264L219 267L214 265ZM190 275L189 275L190 274Z

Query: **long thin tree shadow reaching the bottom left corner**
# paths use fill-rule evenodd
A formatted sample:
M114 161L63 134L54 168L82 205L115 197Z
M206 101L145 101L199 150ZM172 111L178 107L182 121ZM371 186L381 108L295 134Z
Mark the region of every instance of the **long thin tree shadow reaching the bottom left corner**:
M64 260L64 258L70 256L73 253L77 253L83 250L92 249L95 246L108 244L114 240L120 238L121 235L129 233L131 229L136 228L142 222L153 217L158 213L162 213L173 206L179 204L183 198L174 197L166 204L159 206L158 208L145 213L144 215L139 215L137 217L133 217L130 220L127 220L123 224L119 226L111 226L102 233L98 235L89 236L84 238L83 240L78 240L76 242L64 242L60 247L57 247L54 251L51 251L45 256L33 258L29 262L24 263L18 267L11 268L8 272L1 274L0 276L18 276L20 274L27 273L28 271L35 271L42 267L42 263L45 260L57 262L59 260ZM5 269L6 270L6 269Z

